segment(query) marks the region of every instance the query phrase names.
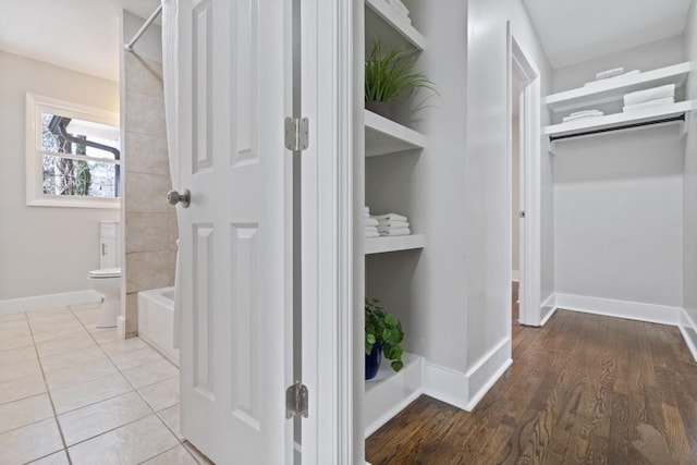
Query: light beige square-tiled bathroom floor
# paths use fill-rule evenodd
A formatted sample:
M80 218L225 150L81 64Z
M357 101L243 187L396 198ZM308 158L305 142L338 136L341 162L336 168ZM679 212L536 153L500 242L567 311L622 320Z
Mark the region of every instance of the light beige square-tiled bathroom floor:
M0 316L0 464L210 464L179 430L179 369L98 313Z

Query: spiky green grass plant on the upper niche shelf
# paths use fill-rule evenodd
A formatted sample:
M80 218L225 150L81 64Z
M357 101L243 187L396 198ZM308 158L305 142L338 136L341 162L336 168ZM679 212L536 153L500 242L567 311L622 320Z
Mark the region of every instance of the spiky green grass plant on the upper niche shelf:
M424 88L436 91L433 83L424 73L414 71L415 63L414 53L408 53L401 47L391 48L383 53L380 42L376 40L366 57L366 108L391 118L389 103L398 96Z

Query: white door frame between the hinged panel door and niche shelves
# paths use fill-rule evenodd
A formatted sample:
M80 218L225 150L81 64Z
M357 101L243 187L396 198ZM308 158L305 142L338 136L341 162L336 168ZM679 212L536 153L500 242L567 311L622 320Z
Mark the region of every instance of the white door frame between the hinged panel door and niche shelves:
M308 465L363 462L355 448L363 436L354 435L353 339L363 308L354 299L357 3L301 1L301 112L309 119L309 146L301 155L302 381L309 390L302 436L313 438L303 441L302 463Z

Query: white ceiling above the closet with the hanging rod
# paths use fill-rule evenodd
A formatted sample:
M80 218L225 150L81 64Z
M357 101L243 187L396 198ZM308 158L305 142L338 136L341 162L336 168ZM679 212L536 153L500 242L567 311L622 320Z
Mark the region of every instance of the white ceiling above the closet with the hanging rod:
M680 35L692 0L523 0L552 68Z

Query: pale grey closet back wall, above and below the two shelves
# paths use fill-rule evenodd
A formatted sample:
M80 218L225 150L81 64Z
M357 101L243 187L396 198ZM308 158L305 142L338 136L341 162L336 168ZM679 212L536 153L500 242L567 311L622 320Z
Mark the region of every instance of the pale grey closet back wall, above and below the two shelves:
M682 53L680 38L661 40L558 70L554 86L583 85L613 65L647 71L680 63ZM682 306L684 146L677 126L558 142L555 154L555 291Z

